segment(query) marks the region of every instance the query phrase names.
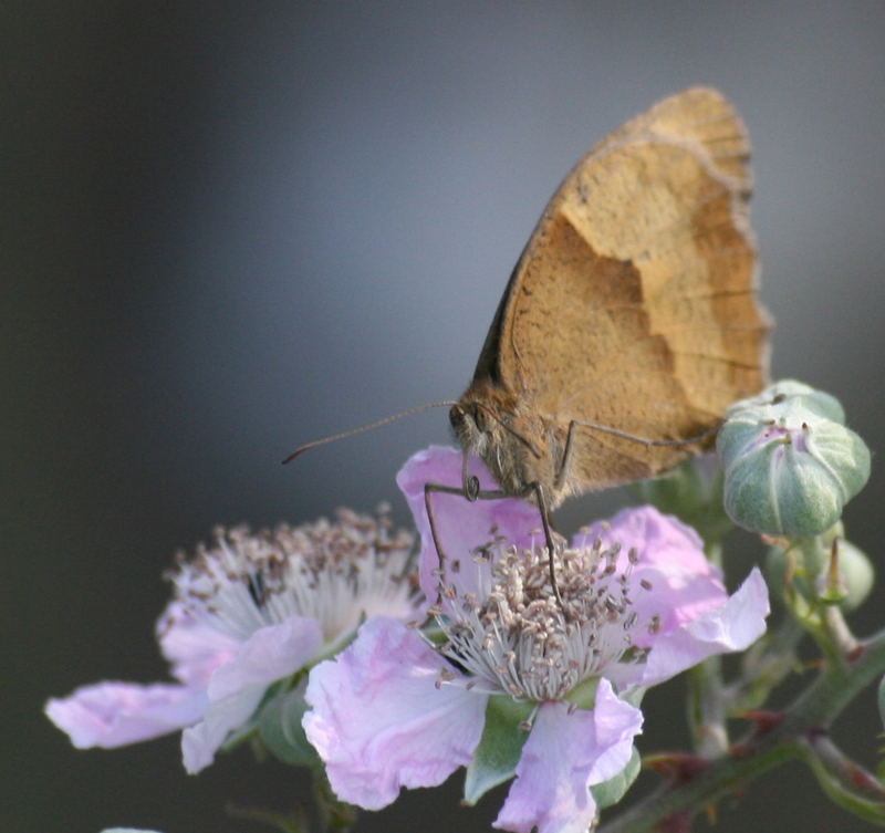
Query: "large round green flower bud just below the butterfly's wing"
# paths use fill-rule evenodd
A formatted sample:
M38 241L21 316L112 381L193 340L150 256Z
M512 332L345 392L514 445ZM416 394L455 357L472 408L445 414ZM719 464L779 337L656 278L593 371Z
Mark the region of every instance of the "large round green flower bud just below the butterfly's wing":
M832 396L792 381L733 405L716 440L731 520L788 537L832 527L870 477L870 451L843 420Z

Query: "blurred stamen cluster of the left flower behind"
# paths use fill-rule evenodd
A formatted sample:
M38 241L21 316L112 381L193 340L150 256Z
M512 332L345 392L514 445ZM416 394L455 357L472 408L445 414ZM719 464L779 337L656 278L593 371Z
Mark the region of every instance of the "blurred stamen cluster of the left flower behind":
M170 615L236 639L293 615L310 616L332 639L364 616L408 615L413 541L392 530L386 507L375 518L341 509L335 521L254 533L219 528L214 546L200 544L192 559L178 555L168 576L175 585Z

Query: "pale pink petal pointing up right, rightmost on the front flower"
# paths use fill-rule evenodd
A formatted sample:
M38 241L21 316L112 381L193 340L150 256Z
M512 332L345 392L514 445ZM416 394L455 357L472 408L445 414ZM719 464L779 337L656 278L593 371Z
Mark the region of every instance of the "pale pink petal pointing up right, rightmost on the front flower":
M716 654L745 650L764 632L770 612L768 587L758 568L719 607L685 627L658 635L644 666L643 687L654 686Z

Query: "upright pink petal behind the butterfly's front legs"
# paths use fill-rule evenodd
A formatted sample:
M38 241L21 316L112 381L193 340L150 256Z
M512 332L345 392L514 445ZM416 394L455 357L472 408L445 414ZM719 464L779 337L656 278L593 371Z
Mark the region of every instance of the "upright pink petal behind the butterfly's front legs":
M413 455L396 476L396 483L405 494L415 525L421 534L420 586L431 603L437 597L439 579L434 571L439 568L439 558L427 519L424 486L441 483L460 487L462 459L462 452L455 448L431 446ZM486 464L478 457L470 458L469 472L479 478L482 489L499 488ZM456 584L461 594L476 592L478 589L476 570L469 569L473 549L499 534L518 545L528 545L533 533L537 537L537 531L541 528L541 516L537 507L524 500L502 498L471 503L460 494L439 492L434 493L430 499L440 543L452 562L448 565L446 582Z

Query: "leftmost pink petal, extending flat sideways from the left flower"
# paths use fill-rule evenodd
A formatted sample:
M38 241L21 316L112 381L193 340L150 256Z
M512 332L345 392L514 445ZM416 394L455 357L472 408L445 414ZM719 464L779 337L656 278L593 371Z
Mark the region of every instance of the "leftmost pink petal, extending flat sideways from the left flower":
M51 699L45 712L79 749L114 749L190 726L207 705L201 688L98 683L64 699Z

